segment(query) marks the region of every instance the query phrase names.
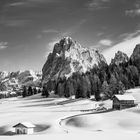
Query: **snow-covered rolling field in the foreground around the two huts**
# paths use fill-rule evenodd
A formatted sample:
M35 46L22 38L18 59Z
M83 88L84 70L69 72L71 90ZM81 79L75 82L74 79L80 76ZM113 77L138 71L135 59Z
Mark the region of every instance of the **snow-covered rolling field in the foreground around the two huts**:
M127 91L140 102L140 88ZM107 108L111 101L99 102ZM0 100L0 140L8 139L140 139L140 107L106 113L81 112L95 108L88 99L69 101L65 98L27 98ZM12 126L19 122L36 125L33 135L13 135Z

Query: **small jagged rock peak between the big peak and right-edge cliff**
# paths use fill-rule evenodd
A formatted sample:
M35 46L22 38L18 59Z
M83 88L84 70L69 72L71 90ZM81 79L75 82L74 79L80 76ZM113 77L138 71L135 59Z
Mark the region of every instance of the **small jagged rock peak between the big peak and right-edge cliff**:
M116 65L119 65L121 63L126 63L128 62L129 58L127 56L127 54L121 52L121 51L118 51L116 54L115 54L115 57L114 59L111 60L111 64L116 64Z

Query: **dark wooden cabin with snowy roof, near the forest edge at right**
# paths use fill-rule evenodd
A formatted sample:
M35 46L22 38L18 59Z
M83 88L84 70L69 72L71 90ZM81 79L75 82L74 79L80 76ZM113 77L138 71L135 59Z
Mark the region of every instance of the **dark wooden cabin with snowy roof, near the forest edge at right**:
M125 109L135 106L135 98L132 95L115 95L113 97L113 109Z

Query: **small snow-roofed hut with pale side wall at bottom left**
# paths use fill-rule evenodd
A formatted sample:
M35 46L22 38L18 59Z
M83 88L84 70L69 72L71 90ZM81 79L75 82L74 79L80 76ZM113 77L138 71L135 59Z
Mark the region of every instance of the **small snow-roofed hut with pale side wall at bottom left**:
M35 125L30 122L22 122L16 124L13 127L15 128L16 134L33 134Z

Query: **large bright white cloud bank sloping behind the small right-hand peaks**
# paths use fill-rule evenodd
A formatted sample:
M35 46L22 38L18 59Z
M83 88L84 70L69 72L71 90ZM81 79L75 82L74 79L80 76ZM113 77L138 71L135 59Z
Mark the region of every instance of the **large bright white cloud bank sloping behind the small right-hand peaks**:
M103 54L108 63L110 63L111 59L115 56L117 51L122 51L126 53L129 57L133 53L133 50L136 44L140 43L140 35L133 36L132 38L124 39L122 42L114 45L113 47L106 49L103 51Z

